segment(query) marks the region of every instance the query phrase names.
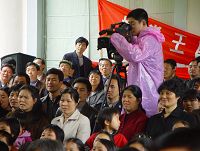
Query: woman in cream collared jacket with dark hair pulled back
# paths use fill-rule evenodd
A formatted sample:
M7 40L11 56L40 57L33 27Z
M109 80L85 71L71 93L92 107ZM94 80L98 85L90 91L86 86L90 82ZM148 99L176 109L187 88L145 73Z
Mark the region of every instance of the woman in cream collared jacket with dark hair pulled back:
M65 89L61 93L61 116L54 118L51 124L58 125L65 132L65 140L70 137L79 138L83 143L90 136L90 121L78 109L78 92L73 88Z

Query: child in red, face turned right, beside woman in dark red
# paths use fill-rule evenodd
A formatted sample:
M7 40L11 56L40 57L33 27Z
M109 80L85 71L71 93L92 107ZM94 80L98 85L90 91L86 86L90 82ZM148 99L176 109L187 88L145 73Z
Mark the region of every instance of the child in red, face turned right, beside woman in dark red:
M99 126L101 126L102 131L106 131L109 134L113 135L114 143L117 147L123 147L126 145L127 140L124 135L117 133L120 121L119 121L119 112L115 108L104 108L99 112L97 117ZM93 142L98 133L92 134L89 139L86 141L86 145L92 149Z

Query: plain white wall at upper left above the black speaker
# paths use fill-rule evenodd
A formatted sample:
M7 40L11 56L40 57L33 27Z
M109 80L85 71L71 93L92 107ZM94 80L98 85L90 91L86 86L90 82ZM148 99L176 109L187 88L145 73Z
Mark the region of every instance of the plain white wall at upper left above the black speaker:
M22 0L0 0L0 57L23 48Z

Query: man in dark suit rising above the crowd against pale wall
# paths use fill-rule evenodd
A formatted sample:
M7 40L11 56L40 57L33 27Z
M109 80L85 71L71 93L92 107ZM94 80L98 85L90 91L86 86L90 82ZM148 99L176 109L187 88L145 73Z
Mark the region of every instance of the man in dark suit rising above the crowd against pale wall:
M75 42L76 50L63 56L63 60L69 60L74 65L75 72L73 78L88 77L90 71L92 70L91 60L83 55L88 44L89 43L86 38L79 37Z

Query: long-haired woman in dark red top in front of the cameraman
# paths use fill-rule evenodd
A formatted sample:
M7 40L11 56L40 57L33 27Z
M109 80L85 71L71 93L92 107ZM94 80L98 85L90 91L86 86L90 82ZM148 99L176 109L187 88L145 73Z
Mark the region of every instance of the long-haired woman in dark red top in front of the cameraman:
M130 85L123 90L122 105L125 113L120 116L119 133L122 133L128 141L145 129L147 116L141 102L142 91L138 86Z

